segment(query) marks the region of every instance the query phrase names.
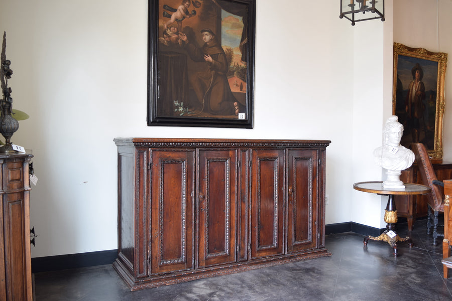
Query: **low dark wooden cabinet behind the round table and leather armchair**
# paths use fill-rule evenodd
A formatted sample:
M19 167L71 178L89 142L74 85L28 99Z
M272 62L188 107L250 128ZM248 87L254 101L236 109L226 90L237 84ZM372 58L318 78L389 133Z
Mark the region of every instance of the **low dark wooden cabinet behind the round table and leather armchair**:
M436 178L439 181L452 179L452 163L444 162L440 164L433 164L433 169L436 174ZM410 168L402 171L400 180L405 183L417 183L423 184L422 178L419 174L419 168L416 164L413 164ZM408 229L412 230L413 223L417 217L427 216L427 196L396 196L395 203L397 208L398 217L406 217L408 221Z

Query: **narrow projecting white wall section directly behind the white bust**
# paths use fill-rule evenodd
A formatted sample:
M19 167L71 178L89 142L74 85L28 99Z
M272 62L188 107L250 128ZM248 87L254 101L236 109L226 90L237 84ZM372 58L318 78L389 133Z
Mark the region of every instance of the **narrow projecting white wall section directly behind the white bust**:
M365 21L354 27L352 182L381 179L382 169L374 164L372 153L381 144L384 120L392 115L385 106L392 103L392 81L385 80L392 76L392 56L385 56L385 50L392 52L391 16L392 6L386 1L385 22ZM351 220L384 228L382 207L387 201L387 197L352 191Z

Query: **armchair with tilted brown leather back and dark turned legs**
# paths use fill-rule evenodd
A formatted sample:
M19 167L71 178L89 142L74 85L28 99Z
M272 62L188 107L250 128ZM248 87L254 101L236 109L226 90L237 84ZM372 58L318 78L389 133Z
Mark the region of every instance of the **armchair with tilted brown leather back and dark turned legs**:
M416 157L416 162L419 167L419 173L422 178L422 183L431 188L431 192L427 195L428 216L427 216L427 234L430 234L433 222L433 245L437 245L437 238L444 235L438 233L438 214L444 211L444 193L441 183L436 179L435 171L431 165L430 158L428 158L427 150L422 143L411 143L411 150ZM432 212L433 211L433 212Z

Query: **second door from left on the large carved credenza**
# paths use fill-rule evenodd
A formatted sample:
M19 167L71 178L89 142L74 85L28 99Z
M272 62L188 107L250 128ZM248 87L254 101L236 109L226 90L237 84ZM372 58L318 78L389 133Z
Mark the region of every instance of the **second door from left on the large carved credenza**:
M237 261L237 149L199 150L199 267Z

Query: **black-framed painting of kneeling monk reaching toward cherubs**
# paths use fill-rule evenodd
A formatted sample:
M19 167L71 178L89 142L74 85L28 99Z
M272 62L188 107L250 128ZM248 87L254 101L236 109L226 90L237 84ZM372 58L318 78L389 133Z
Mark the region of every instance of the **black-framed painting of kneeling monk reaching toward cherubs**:
M149 126L253 128L255 0L149 0Z

